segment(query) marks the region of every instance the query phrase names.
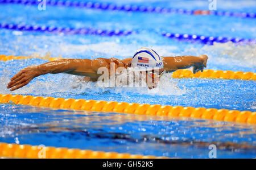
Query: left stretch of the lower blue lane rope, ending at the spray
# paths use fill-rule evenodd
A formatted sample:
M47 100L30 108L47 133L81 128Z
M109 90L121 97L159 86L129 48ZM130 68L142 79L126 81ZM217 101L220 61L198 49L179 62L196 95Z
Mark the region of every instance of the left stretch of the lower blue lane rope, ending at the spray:
M95 28L60 28L60 27L47 27L47 26L29 26L24 24L5 24L0 23L0 28L17 31L39 31L49 32L53 34L65 34L65 35L101 35L101 36L126 36L134 34L135 31L122 31L122 30L100 30Z

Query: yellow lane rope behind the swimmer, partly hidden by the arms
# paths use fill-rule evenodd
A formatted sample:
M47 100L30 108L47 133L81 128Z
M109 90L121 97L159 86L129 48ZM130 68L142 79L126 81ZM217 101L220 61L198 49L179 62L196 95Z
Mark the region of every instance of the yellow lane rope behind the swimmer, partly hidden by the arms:
M44 60L59 60L60 57L36 57ZM6 56L0 55L0 60L19 60L19 59L31 59L31 57L25 56ZM233 71L213 71L210 69L203 72L197 72L193 74L188 69L179 69L172 73L172 78L223 78L223 79L240 79L240 80L256 80L256 73L253 72L233 72Z

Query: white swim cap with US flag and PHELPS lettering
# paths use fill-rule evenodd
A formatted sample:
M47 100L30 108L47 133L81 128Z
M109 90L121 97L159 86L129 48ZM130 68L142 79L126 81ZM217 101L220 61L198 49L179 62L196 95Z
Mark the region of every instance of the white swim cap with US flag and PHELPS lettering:
M139 48L131 60L131 67L138 68L139 71L150 71L152 69L163 68L163 59L153 49Z

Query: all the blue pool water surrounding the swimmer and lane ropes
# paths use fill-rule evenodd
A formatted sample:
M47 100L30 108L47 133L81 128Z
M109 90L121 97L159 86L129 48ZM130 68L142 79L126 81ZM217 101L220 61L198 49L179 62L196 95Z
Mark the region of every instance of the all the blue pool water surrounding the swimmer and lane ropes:
M113 3L123 4L120 1ZM208 8L208 1L129 0L126 3L177 9ZM256 5L255 1L218 0L217 8L254 12ZM104 37L0 29L0 54L4 55L125 59L132 56L137 48L148 46L161 56L206 54L209 56L207 69L256 72L255 44L203 45L178 42L160 35L166 31L256 39L256 22L251 18L126 13L55 6L47 6L46 11L39 11L37 6L11 4L0 4L0 10L5 11L0 14L0 23L138 32L129 36ZM256 111L256 82L244 80L174 79L171 74L166 74L161 78L158 89L148 90L100 88L93 82L81 82L79 76L48 74L35 78L29 85L14 92L6 89L9 79L20 69L46 61L0 61L0 94ZM256 157L255 126L243 123L92 113L9 104L0 105L0 115L0 142L198 158L208 157L208 146L215 143L219 147L218 158ZM250 146L250 150L241 150L242 145Z

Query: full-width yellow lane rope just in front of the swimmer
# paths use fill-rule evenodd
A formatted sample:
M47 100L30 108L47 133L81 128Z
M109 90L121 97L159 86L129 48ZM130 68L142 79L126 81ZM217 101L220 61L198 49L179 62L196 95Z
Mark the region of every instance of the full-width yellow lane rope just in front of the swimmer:
M0 103L13 102L17 105L31 105L74 109L85 111L103 111L126 114L160 115L171 117L191 117L214 119L216 121L242 122L256 124L256 112L227 109L206 109L204 107L162 106L114 101L95 101L73 98L34 97L12 94L0 94Z

